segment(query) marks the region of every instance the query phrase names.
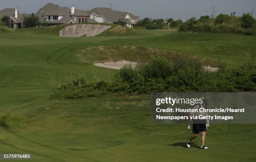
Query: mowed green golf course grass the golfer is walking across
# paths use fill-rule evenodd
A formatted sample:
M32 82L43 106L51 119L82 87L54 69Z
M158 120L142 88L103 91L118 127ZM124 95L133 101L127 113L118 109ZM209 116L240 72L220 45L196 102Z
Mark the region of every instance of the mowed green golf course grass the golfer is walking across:
M92 64L102 59L98 53L84 62L77 57L88 47L151 47L234 66L255 57L256 37L165 30L71 38L31 30L0 33L0 153L31 153L37 162L256 161L256 125L211 125L210 149L198 148L200 137L187 149L187 125L151 122L150 95L49 97L52 86L81 76L110 79L115 70Z

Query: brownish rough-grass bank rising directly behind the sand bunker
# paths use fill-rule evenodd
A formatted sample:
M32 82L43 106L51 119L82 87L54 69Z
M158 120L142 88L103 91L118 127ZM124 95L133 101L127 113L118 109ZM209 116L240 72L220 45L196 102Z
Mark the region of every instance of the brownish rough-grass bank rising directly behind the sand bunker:
M104 53L104 55L102 55ZM216 66L216 60L198 57L196 55L187 55L180 52L169 50L159 50L148 47L134 47L134 46L97 46L87 47L80 50L77 54L83 62L94 63L97 61L115 61L115 60L132 60L148 62L152 57L160 55L169 60L179 56L183 59L199 60L202 65Z

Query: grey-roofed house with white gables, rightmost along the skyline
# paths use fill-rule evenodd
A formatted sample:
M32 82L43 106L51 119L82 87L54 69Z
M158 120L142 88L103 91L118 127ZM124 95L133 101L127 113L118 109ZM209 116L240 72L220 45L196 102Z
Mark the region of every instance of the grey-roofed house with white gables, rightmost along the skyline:
M114 11L110 8L96 7L90 11L90 18L100 23L113 23L118 22L118 20L123 20L126 22L126 26L133 27L140 18L131 14L130 12Z

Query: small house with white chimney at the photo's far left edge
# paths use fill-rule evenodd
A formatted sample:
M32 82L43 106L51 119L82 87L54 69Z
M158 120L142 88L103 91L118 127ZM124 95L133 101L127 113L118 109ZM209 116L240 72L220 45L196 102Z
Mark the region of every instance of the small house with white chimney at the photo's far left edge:
M4 16L9 17L9 27L18 29L23 27L23 21L24 21L24 16L29 16L30 14L20 14L18 12L17 8L6 8L4 10L0 10L0 18Z

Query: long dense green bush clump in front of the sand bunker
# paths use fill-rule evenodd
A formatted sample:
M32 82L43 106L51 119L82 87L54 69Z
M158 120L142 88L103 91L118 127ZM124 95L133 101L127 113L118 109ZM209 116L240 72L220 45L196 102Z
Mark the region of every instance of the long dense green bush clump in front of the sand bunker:
M95 97L111 92L243 92L256 91L256 63L228 69L220 65L218 72L206 71L200 62L175 58L169 62L156 56L135 68L125 65L111 82L78 79L61 86L55 97Z

